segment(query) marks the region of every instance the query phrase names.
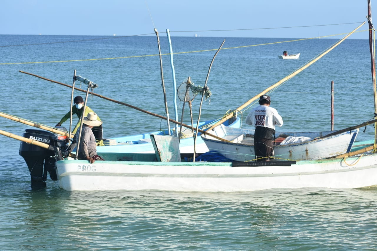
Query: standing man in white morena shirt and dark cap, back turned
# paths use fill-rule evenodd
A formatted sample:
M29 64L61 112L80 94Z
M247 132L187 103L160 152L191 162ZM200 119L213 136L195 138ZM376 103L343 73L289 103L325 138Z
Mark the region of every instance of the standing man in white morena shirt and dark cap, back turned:
M270 96L262 95L259 106L246 117L245 123L254 125L254 151L257 161L270 161L274 156L275 125L282 126L283 119L276 109L270 107Z

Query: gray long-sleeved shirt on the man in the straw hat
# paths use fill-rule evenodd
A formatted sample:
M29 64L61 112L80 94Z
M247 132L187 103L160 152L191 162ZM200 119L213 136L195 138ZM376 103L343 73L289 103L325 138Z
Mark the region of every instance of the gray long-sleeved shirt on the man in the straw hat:
M75 138L77 138L78 133L80 133L80 128L78 129ZM92 158L97 154L97 145L95 142L95 137L90 127L83 125L83 133L81 133L80 147L79 147L78 158L86 159L87 156Z

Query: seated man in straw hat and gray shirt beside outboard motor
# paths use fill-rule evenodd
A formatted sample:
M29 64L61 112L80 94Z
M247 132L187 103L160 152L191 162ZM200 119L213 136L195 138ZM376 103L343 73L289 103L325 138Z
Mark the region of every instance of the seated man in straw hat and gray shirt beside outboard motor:
M86 159L93 164L96 160L103 161L104 159L97 155L97 144L93 134L93 127L98 127L102 124L102 121L98 120L98 116L94 112L89 112L83 119L83 132L81 133L80 146L78 148L78 159ZM74 138L74 142L77 143L78 136L80 134L80 128L77 130Z

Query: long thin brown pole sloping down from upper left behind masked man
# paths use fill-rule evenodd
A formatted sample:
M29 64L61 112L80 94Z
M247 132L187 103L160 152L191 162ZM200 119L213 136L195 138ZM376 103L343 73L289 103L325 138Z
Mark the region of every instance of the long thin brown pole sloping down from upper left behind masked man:
M37 78L41 78L41 79L43 79L43 80L47 80L47 81L50 81L50 82L52 82L52 83L56 83L56 84L60 84L60 85L62 85L62 86L66 86L66 87L72 88L72 86L70 86L70 85L68 85L68 84L64 84L64 83L61 83L61 82L58 82L58 81L50 80L50 79L48 79L48 78L44 78L44 77L41 77L41 76L35 75L35 74L33 74L33 73L24 72L24 71L22 71L22 70L19 70L19 72L21 72L21 73L25 73L25 74L28 74L28 75L31 75L31 76L34 76L34 77L37 77ZM74 89L75 89L75 90L78 90L78 91L80 91L80 92L85 92L85 93L86 93L86 90L83 90L83 89L80 89L80 88L77 88L77 87L74 87ZM97 96L97 97L100 97L100 98L103 98L103 99L109 100L109 101L111 101L111 102L114 102L114 103L117 103L117 104L121 104L121 105L123 105L123 106L128 106L128 107L133 108L133 109L135 109L135 110L138 110L138 111L140 111L140 112L144 112L144 113L147 113L147 114L149 114L149 115L155 116L155 117L157 117L157 118L161 118L161 119L165 119L165 120L167 120L167 118L164 117L164 116L158 115L158 114L156 114L156 113L148 112L147 110L143 110L143 109L141 109L141 108L139 108L139 107L132 106L132 105L130 105L130 104L126 104L126 103L123 103L123 102L121 102L121 101L117 101L117 100L115 100L115 99L107 98L106 96L99 95L99 94L94 93L94 92L91 92L90 95ZM172 122L172 123L178 124L178 125L181 124L180 122L175 121L175 120L173 120L173 119L169 119L169 121ZM201 129L198 129L198 128L195 128L195 127L192 127L192 126L188 126L188 125L186 125L186 124L182 124L182 126L184 126L184 127L186 127L186 128L189 128L189 129L192 129L192 130L197 130L197 131L200 132L200 133L203 133L203 134L205 134L205 135L209 135L209 136L211 136L211 137L213 137L213 138L216 138L216 139L219 139L219 140L221 140L221 141L230 142L230 141L228 141L228 140L226 140L226 139L220 138L220 137L218 137L218 136L216 136L216 135L213 135L213 134L211 134L211 133L208 133L208 132L206 132L206 131L204 131L204 130L201 130Z

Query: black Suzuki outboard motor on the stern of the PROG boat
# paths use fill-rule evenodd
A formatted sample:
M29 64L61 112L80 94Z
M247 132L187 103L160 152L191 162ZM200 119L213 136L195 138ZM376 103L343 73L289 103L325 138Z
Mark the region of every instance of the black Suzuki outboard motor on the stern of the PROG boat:
M56 128L67 131L65 127ZM49 172L50 178L53 181L58 179L55 162L62 159L61 149L66 149L66 136L57 135L44 130L25 129L23 137L50 145L47 149L21 141L19 152L28 165L31 177L31 187L46 187L45 181L47 179L47 172Z

